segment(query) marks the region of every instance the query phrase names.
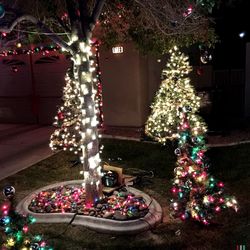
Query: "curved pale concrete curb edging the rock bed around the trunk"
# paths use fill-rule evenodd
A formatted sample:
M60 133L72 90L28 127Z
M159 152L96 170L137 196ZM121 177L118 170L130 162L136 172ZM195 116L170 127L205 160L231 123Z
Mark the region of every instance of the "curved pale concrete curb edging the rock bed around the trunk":
M143 197L146 205L148 206L148 213L144 217L134 220L119 221L113 219L80 215L75 213L35 213L29 209L29 205L32 199L34 199L34 197L40 192L52 188L57 188L60 186L80 185L81 183L81 180L72 180L55 183L37 189L30 195L26 196L21 202L19 202L16 207L16 210L21 214L32 215L36 218L36 221L38 223L71 223L72 225L81 225L97 232L111 234L141 233L155 227L162 221L162 208L159 203L144 192L132 187L126 188L134 195Z

